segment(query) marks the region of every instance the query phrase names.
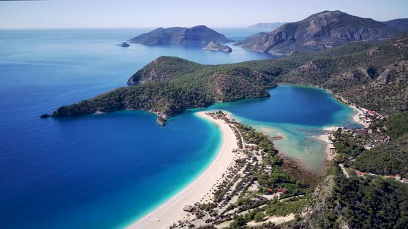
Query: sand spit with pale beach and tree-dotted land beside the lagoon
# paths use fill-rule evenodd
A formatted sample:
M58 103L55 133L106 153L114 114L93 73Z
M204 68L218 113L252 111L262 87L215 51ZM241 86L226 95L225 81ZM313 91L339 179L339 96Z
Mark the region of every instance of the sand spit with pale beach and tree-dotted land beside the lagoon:
M216 159L189 186L128 228L230 224L235 228L240 226L237 217L245 217L241 223L248 225L259 222L259 218L280 219L280 223L294 219L306 203L306 192L311 190L307 172L290 168L290 162L281 159L269 137L234 121L228 113L220 110L196 115L221 129L223 139ZM277 206L286 209L289 216L272 210Z

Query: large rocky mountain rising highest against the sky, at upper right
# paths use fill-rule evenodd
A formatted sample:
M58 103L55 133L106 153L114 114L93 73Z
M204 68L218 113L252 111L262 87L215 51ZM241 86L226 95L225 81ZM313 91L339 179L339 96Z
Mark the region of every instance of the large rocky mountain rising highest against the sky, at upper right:
M400 34L379 21L341 11L324 11L283 26L243 45L248 50L290 54L295 50L322 50L351 41L390 39Z

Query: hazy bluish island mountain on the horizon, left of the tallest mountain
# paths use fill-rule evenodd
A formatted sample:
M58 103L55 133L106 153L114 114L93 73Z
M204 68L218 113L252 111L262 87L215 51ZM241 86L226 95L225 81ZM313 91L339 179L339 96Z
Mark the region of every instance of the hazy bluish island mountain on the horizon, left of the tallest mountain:
M207 26L156 28L150 32L140 34L138 37L133 37L129 41L151 46L169 44L206 46L211 41L232 42L223 34L207 28Z

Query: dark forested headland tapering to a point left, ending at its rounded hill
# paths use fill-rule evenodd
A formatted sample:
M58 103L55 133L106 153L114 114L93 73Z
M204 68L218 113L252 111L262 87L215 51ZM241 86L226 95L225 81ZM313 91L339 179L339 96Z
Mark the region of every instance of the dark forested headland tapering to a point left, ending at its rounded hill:
M147 110L171 117L215 101L268 97L273 78L248 67L205 66L177 57L159 57L129 79L129 86L53 112L54 117L91 115L117 110Z

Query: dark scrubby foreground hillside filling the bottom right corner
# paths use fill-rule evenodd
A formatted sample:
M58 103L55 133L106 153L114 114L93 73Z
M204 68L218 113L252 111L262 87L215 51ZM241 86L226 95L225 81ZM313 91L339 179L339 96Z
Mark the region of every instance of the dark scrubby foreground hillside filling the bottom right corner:
M281 228L407 228L408 185L351 176L338 166L316 189L304 216ZM272 227L264 227L272 228Z

